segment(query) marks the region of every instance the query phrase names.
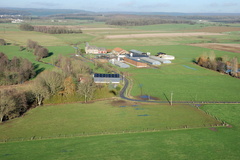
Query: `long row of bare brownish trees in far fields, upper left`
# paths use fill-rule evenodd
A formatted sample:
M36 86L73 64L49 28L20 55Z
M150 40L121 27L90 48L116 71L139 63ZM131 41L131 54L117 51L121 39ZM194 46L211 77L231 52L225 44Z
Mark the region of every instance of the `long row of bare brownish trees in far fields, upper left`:
M64 27L55 27L55 26L32 26L27 23L23 23L19 26L23 31L36 31L43 32L48 34L72 34L72 33L82 33L81 29L73 30Z

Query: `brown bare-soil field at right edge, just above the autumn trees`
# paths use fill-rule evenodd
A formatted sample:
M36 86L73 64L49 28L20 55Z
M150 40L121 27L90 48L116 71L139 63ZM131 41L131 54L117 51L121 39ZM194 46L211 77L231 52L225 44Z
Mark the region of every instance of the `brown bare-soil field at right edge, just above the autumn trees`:
M240 44L220 44L220 43L201 43L201 44L190 44L191 46L210 48L221 51L228 51L234 53L240 53Z

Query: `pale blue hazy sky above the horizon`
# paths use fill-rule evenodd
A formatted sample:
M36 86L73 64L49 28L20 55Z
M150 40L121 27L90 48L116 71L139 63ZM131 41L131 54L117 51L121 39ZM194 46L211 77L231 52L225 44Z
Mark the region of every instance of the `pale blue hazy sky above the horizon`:
M240 13L240 0L0 0L0 7L80 9L96 12Z

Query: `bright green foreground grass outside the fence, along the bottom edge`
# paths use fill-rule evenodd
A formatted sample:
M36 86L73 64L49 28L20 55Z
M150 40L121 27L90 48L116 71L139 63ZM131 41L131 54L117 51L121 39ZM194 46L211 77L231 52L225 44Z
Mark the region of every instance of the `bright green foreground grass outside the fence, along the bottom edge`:
M0 144L1 159L239 159L237 105L203 107L234 128L187 129ZM224 113L224 114L223 114Z

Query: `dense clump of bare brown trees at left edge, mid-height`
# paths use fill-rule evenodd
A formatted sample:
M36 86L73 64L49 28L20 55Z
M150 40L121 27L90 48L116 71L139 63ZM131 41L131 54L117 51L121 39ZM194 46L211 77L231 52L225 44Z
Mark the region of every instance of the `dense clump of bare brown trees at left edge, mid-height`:
M21 57L8 57L0 52L0 85L19 84L28 81L36 75L34 65Z

